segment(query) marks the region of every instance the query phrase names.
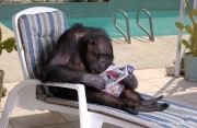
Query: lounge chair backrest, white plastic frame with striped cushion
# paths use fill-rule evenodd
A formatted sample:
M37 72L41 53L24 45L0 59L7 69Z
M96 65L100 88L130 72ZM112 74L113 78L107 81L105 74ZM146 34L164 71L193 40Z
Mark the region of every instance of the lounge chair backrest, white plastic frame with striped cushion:
M68 27L66 14L36 7L19 12L12 22L24 79L37 79L43 62Z

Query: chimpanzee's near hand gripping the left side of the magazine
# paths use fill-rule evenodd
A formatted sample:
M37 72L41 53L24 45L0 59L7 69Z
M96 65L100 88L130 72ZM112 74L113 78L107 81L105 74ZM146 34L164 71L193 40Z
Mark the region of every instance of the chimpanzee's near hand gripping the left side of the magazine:
M105 90L105 80L97 74L83 74L81 82L99 91Z

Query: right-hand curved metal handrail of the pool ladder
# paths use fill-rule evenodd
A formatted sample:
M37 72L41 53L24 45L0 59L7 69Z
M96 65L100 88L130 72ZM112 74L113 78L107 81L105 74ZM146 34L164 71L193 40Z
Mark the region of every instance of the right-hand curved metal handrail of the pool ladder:
M139 23L139 13L141 11L146 12L148 14L148 16L149 16L149 25L150 25L151 34L143 26L141 26L141 24ZM136 21L137 21L138 26L147 33L147 35L149 36L149 39L154 42L153 27L152 27L152 18L151 18L151 14L149 13L149 11L147 11L146 9L138 10L138 12L136 14Z

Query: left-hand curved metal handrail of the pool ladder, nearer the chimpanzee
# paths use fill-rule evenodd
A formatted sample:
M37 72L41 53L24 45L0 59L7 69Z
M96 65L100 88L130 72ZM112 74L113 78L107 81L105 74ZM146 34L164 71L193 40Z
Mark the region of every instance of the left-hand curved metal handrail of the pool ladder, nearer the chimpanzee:
M116 16L117 16L117 12L121 12L125 16L125 20L126 20L126 27L127 27L127 35L118 27L118 25L116 24ZM117 9L115 10L115 13L114 13L114 25L116 26L116 28L124 35L125 37L125 40L128 42L128 44L131 44L131 40L130 40L130 30L129 30L129 20L128 20L128 16L127 16L127 13L124 12L123 10L120 9Z

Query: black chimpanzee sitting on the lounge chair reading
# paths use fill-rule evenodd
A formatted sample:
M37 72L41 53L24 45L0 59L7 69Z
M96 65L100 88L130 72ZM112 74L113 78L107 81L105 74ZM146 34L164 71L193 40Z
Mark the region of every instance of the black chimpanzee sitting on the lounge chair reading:
M40 80L82 83L85 85L89 103L115 107L130 114L160 112L169 107L167 103L158 103L163 95L152 100L141 97L135 91L138 81L132 73L121 80L126 88L119 97L105 93L105 81L99 74L113 65L113 59L112 42L104 30L76 24L59 37L42 68ZM78 100L74 90L57 88L56 91L58 97Z

